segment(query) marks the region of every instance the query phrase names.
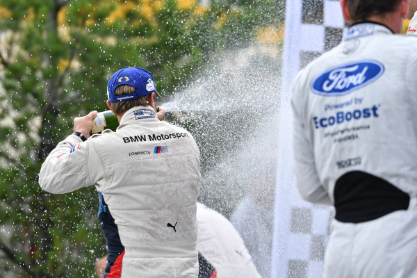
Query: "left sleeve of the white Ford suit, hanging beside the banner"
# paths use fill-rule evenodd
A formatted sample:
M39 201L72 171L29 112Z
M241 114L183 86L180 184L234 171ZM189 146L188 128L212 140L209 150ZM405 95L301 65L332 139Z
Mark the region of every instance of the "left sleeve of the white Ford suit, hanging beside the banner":
M302 101L305 100L303 94L306 92L300 91L302 88L300 78L295 79L293 85L293 99L291 106L293 108L293 156L294 156L294 174L295 183L298 191L303 199L308 202L318 204L332 204L327 190L321 185L316 170L316 163L314 159L313 143L309 140L309 135L304 121L306 115L302 115L305 111L302 109Z

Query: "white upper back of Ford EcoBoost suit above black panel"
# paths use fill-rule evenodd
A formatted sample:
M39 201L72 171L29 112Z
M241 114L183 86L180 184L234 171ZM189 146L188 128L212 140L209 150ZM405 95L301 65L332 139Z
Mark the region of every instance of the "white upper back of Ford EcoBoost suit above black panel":
M319 178L331 198L338 178L352 169L417 193L411 186L417 179L416 51L416 38L357 24L298 76L293 106L311 136ZM304 181L309 175L297 177Z

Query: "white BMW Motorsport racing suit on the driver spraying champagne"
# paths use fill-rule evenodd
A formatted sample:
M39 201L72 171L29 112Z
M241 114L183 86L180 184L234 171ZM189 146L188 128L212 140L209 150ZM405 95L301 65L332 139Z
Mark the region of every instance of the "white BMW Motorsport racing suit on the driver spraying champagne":
M197 277L200 179L193 137L159 121L151 107L131 108L117 132L106 130L85 142L68 136L39 175L50 193L96 186L107 277L122 278Z

